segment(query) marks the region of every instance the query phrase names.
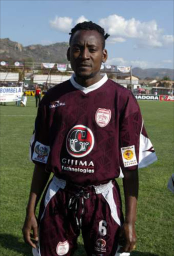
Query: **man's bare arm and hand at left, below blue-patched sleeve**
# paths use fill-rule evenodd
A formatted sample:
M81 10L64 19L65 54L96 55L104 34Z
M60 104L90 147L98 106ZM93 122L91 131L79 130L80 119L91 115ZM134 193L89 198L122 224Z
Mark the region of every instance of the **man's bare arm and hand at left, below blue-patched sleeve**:
M26 216L22 227L24 241L31 245L33 248L36 248L34 241L38 240L35 209L41 193L43 192L43 189L49 179L49 176L50 173L45 172L44 166L35 164L28 204L26 207ZM30 234L31 230L33 231L33 234ZM33 241L31 240L31 238L33 239Z

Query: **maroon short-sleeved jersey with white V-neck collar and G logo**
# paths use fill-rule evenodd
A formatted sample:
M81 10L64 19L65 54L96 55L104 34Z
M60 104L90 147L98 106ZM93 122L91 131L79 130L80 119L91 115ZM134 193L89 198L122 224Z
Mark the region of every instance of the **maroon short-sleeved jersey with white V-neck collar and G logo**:
M38 108L30 157L80 185L123 177L124 168L157 159L136 99L106 74L87 88L72 75L48 90Z

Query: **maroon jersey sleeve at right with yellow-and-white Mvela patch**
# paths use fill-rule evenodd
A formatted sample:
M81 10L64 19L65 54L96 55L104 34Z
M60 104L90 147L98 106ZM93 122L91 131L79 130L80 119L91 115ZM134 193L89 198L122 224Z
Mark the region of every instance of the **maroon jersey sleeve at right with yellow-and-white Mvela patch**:
M145 131L139 105L130 94L119 121L120 168L134 170L155 160L155 150Z

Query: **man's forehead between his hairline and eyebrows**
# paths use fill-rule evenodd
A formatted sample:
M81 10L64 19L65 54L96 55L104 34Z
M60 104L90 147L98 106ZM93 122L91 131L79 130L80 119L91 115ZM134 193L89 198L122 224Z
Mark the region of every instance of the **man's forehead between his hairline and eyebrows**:
M77 30L71 39L71 45L73 44L94 44L102 45L101 34L96 30Z

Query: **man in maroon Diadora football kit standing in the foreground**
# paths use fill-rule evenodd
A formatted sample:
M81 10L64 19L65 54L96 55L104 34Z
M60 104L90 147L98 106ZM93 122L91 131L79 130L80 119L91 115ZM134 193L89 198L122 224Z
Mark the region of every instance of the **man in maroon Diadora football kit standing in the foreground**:
M75 74L42 98L30 141L35 168L24 240L35 256L70 256L81 229L88 256L129 255L136 241L137 167L156 160L155 152L131 91L100 74L104 29L85 21L70 34L67 59ZM35 208L50 172L37 231Z

